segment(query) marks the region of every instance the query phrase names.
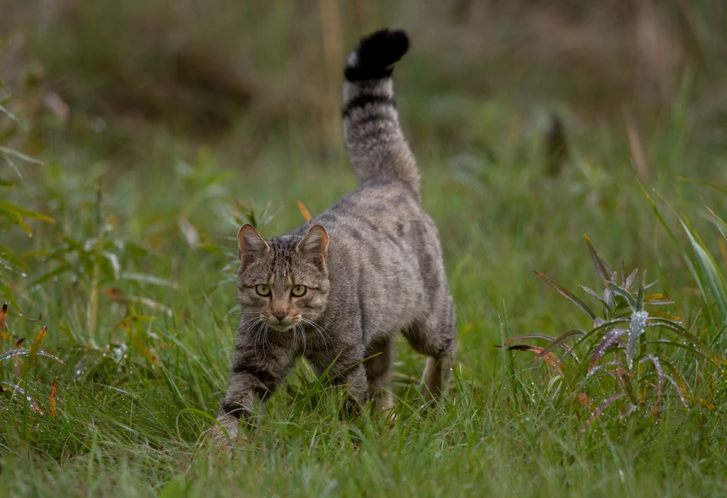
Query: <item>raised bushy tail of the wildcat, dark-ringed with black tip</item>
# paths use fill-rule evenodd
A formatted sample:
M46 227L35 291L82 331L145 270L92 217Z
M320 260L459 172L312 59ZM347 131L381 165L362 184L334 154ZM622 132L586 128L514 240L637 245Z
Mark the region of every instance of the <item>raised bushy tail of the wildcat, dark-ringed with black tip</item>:
M376 31L361 38L346 61L343 129L361 183L383 176L401 181L419 197L419 171L404 139L394 102L394 63L409 50L402 30Z

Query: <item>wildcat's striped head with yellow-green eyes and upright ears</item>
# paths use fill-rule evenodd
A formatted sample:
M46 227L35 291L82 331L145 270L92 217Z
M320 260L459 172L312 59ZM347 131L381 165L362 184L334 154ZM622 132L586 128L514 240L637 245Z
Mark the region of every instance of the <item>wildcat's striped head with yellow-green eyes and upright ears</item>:
M237 240L241 323L263 322L283 332L323 313L329 279L328 232L322 225L311 226L302 239L285 235L268 242L254 226L244 225Z

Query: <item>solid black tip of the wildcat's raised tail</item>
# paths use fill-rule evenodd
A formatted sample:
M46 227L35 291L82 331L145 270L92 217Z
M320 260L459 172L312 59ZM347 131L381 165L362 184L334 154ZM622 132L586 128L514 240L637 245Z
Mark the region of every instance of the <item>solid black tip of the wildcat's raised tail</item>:
M409 36L403 30L382 29L361 38L348 60L348 81L388 78L395 62L409 51Z

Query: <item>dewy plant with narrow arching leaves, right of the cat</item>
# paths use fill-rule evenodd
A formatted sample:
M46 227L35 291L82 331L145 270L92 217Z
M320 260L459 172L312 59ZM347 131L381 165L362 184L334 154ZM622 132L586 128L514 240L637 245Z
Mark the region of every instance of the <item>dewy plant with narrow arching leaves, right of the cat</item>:
M646 272L640 278L638 269L627 274L623 258L620 274L612 271L587 236L585 240L605 288L597 292L581 287L601 303L601 314L555 280L536 274L583 311L593 327L568 330L558 338L535 333L518 335L502 346L534 352L533 361L542 359L552 367L551 375L563 377L566 392L590 409L587 425L612 405L619 407L621 418L638 412L656 416L664 408L664 396L670 391L684 407L690 401L710 406L708 400L696 399L670 353L678 349L689 351L707 360L722 375L727 360L684 327L678 317L654 309L673 301L661 293L646 293L656 283L646 284ZM529 339L546 340L547 345L519 343ZM563 351L561 356L555 354L558 349ZM600 399L600 403L595 405L592 399Z

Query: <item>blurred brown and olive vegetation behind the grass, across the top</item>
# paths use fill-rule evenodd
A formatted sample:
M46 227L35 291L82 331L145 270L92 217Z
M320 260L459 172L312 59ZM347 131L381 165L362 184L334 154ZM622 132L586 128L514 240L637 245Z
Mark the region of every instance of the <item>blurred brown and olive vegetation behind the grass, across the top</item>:
M398 98L425 163L496 148L491 121L513 115L523 132L556 113L569 134L632 123L648 141L680 91L700 146L725 146L720 1L9 1L0 68L38 126L29 152L71 141L128 169L173 134L244 171L293 130L296 147L337 153L343 57L382 26L414 43Z

